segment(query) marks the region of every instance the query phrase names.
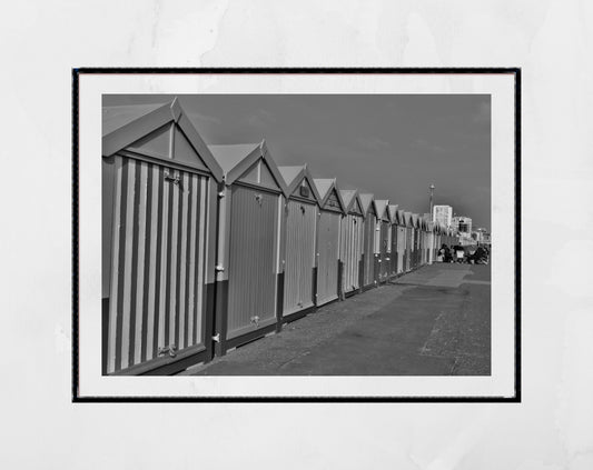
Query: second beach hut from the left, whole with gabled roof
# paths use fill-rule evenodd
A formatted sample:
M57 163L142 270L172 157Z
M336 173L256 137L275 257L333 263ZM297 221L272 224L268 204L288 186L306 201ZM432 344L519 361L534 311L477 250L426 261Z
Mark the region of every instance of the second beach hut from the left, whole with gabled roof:
M278 328L280 227L286 183L266 142L209 146L223 168L219 197L216 353Z

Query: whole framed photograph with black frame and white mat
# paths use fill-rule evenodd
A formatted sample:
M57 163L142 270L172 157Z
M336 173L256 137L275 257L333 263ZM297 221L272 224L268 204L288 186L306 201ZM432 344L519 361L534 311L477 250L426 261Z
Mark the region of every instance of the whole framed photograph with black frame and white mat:
M75 69L72 400L521 401L521 70Z

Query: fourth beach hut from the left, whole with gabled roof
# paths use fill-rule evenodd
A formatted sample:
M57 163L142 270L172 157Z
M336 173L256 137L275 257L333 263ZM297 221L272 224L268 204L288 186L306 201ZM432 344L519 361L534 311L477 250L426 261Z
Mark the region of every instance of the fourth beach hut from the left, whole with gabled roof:
M322 199L317 221L317 306L339 297L339 236L344 201L334 179L315 179Z

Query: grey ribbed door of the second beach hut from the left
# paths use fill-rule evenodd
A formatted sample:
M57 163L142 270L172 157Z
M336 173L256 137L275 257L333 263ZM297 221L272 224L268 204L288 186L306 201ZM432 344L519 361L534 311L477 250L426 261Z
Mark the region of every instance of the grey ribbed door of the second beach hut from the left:
M278 196L235 186L231 206L227 339L276 320Z

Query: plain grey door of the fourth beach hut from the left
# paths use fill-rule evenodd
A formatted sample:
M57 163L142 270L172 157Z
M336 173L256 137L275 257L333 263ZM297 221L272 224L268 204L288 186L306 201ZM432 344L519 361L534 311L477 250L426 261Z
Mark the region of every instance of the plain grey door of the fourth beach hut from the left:
M338 297L339 219L336 212L322 211L317 244L317 304Z

